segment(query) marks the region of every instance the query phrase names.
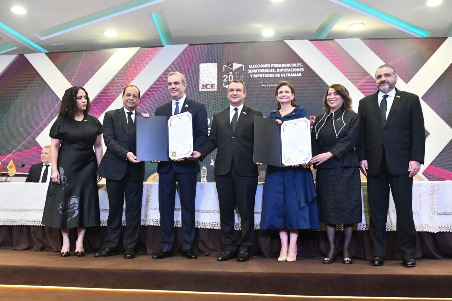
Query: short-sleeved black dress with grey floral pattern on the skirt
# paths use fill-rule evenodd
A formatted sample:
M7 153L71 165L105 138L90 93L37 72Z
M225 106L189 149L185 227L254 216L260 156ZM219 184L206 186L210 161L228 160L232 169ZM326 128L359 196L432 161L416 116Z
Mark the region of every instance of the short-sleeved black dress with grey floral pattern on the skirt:
M97 160L93 149L99 134L102 134L101 123L86 114L81 121L60 116L52 125L50 137L61 140L57 162L60 184L49 183L43 225L52 228L99 226Z

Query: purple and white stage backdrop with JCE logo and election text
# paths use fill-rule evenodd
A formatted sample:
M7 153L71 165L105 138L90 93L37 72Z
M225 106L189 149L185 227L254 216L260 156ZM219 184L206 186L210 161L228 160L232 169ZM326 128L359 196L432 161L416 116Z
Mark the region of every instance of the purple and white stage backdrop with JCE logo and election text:
M0 56L0 162L10 159L27 172L40 162L42 145L50 144L49 129L56 119L66 88L84 86L92 101L90 114L102 122L104 113L122 106L122 89L141 90L137 110L154 115L170 97L167 76L187 77L188 97L205 103L208 120L228 106L226 87L243 80L245 104L267 116L276 109L275 86L293 83L298 102L313 122L322 114L325 89L343 84L359 100L376 92L376 68L397 70L397 88L421 97L427 136L423 176L430 181L452 180L452 38L252 42L173 45L49 54ZM209 165L215 152L207 157ZM259 167L263 176L265 167ZM156 164L146 162L146 176ZM263 180L262 178L260 179Z

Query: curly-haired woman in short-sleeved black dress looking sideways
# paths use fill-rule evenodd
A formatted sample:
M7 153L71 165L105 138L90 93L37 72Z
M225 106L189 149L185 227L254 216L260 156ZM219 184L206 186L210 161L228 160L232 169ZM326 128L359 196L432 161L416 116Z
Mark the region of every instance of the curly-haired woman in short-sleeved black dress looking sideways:
M47 190L42 224L61 228L61 257L69 256L69 228L77 228L75 255L83 256L85 227L98 226L96 176L102 159L102 125L88 115L88 93L82 87L65 91L58 118L50 129L52 181ZM93 150L94 145L94 150Z

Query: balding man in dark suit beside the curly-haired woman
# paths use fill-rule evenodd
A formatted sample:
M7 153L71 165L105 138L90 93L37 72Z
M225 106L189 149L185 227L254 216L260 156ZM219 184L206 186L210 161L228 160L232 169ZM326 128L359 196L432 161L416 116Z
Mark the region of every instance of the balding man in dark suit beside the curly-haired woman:
M122 92L123 107L108 111L104 117L104 142L107 150L97 174L107 181L108 221L104 248L94 257L118 255L122 224L122 206L126 199L126 232L122 245L125 259L135 258L141 225L141 199L145 173L144 162L137 161L136 107L140 90L133 85ZM149 116L148 114L144 114Z

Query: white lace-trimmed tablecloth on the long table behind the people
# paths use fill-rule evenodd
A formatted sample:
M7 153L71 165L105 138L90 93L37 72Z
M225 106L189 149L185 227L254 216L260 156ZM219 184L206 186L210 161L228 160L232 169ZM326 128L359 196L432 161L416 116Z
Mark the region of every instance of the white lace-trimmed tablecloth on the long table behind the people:
M144 183L141 209L141 225L159 226L158 183ZM262 205L263 184L258 185L254 218L255 228L259 229ZM367 187L363 191L363 222L358 230L368 230L369 210L367 206ZM0 183L0 225L41 225L42 211L46 198L47 185L41 183ZM452 181L415 181L413 185L413 215L416 231L452 231ZM107 225L108 197L105 185L99 185L99 205L101 226ZM196 190L196 227L220 228L220 210L215 183L198 183ZM395 231L395 206L390 200L386 229ZM122 223L125 225L123 211ZM176 194L174 226L181 227L181 209ZM235 228L240 228L239 215L235 214Z

